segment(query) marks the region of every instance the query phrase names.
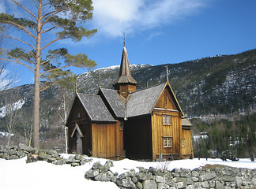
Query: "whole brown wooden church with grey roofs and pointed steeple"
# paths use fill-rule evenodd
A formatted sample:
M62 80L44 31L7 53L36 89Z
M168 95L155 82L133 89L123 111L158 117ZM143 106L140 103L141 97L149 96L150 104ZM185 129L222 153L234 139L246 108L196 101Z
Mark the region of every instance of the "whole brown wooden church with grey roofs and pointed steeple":
M66 122L70 154L117 160L193 157L191 123L170 83L137 91L125 46L113 86L97 95L76 94Z

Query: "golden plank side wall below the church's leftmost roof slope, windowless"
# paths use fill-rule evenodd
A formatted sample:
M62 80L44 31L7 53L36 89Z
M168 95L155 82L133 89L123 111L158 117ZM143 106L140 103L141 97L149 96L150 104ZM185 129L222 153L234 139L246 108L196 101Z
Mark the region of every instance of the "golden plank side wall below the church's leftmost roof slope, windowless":
M92 156L115 158L115 124L92 124Z

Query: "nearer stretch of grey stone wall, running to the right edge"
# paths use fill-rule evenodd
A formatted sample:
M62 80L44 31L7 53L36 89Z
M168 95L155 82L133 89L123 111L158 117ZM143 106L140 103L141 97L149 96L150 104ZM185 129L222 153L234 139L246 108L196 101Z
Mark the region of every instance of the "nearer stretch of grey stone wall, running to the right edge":
M252 188L256 187L256 170L239 169L221 165L209 165L202 169L173 169L172 171L155 168L134 169L118 176L111 172L111 161L105 165L96 162L92 169L85 172L85 179L115 182L120 188Z

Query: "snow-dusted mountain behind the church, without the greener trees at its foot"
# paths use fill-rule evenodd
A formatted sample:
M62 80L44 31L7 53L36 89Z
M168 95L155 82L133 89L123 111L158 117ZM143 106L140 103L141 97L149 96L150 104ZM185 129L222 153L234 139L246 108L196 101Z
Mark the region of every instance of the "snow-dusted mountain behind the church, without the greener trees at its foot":
M167 65L130 65L137 80L137 90L164 83ZM96 94L101 87L113 88L119 75L119 65L96 69L77 76L78 92ZM241 54L205 57L194 61L168 64L169 82L183 112L188 117L234 119L255 112L256 105L256 49ZM23 85L0 92L0 132L4 123L4 97L19 94L17 109L32 115L33 85ZM63 97L72 102L74 91L53 86L41 94L41 132L44 138L60 138L62 132ZM24 117L24 116L23 116ZM32 117L32 116L31 116ZM22 125L22 121L21 124ZM55 128L55 132L49 130Z

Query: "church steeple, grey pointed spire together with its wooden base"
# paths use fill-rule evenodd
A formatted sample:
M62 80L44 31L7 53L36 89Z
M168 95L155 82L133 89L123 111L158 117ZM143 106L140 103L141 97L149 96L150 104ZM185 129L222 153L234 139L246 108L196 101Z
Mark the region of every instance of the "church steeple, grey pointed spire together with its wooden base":
M119 77L113 84L115 90L119 91L119 95L126 98L130 92L136 91L137 81L131 76L130 65L126 46L122 49L122 59L119 71Z

